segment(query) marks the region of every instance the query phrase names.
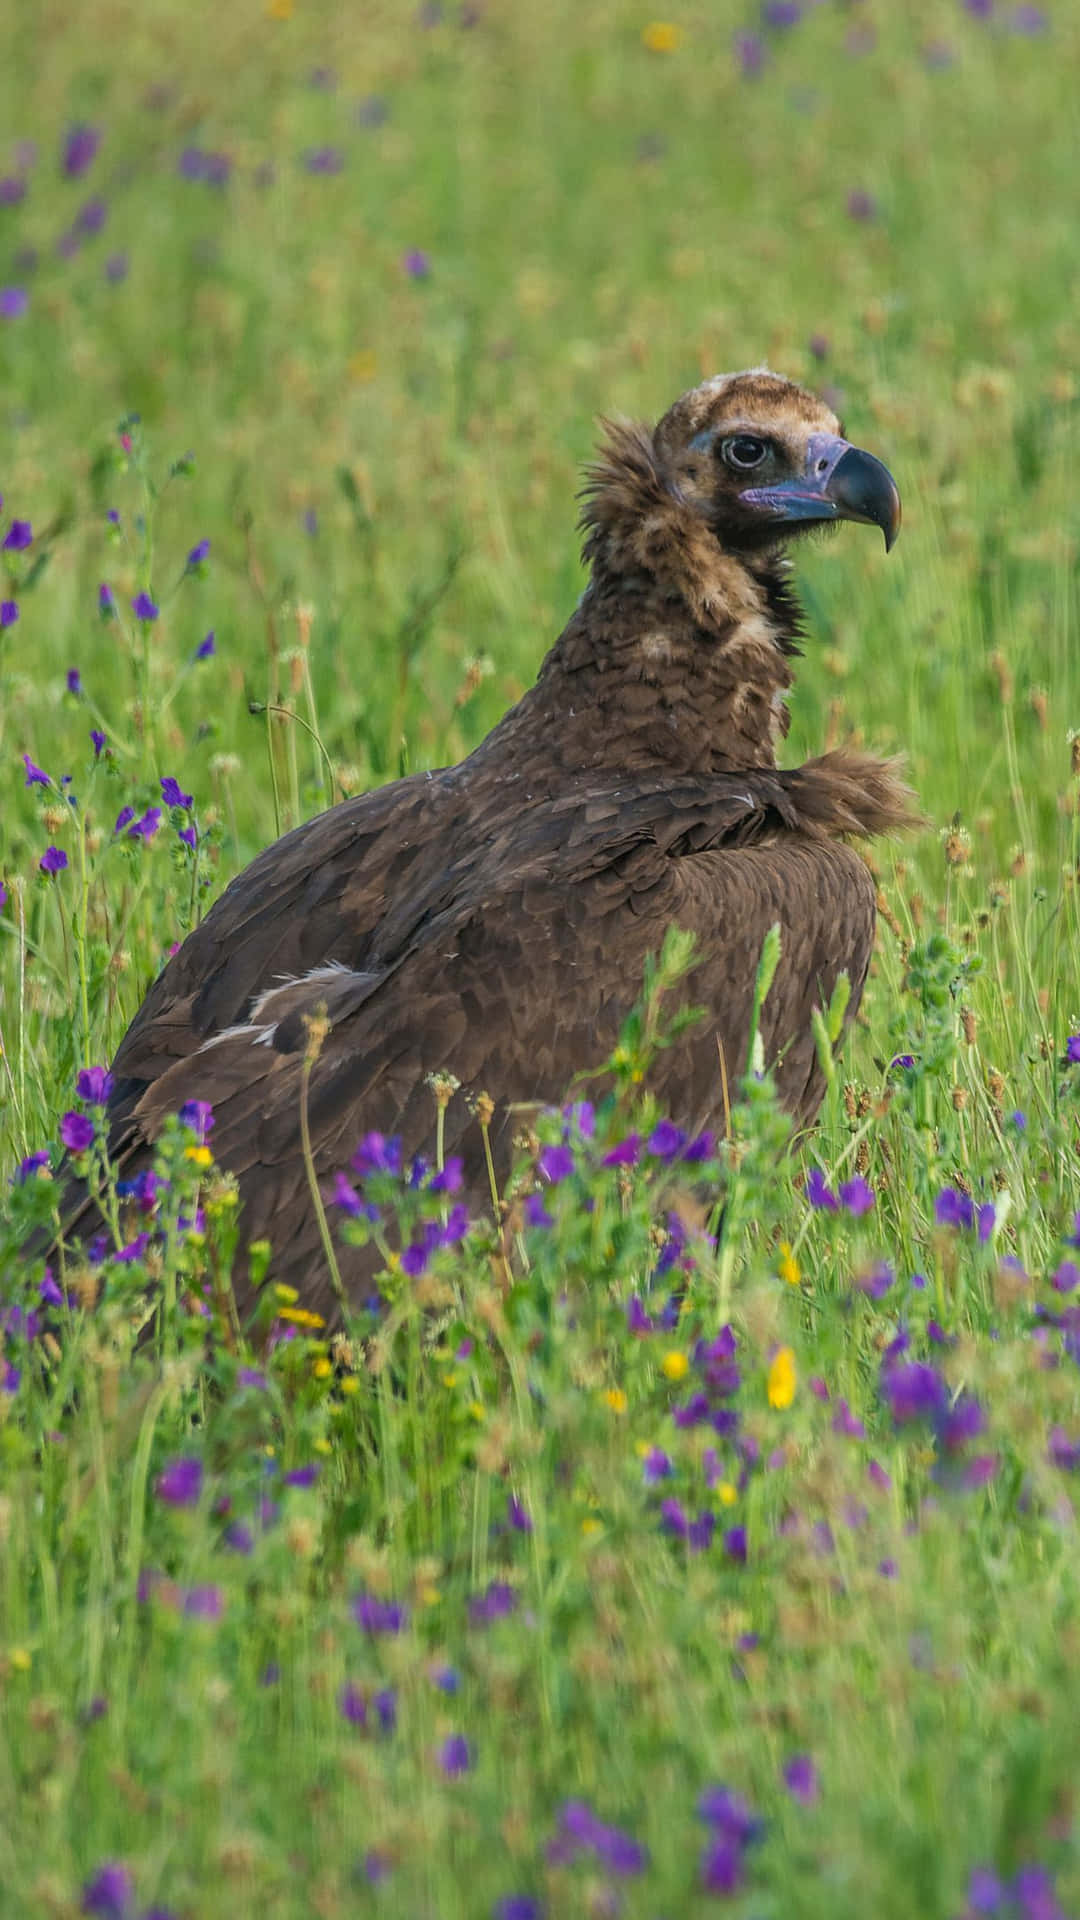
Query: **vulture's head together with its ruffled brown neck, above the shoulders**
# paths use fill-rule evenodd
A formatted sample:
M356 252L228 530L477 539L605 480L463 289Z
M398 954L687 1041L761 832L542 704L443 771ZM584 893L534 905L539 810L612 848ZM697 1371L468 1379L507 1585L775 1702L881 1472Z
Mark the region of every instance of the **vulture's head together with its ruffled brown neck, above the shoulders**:
M730 470L732 440L767 486ZM707 382L655 430L609 422L584 488L592 578L515 716L567 770L774 766L801 636L786 541L830 518L874 518L888 543L896 488L774 374Z

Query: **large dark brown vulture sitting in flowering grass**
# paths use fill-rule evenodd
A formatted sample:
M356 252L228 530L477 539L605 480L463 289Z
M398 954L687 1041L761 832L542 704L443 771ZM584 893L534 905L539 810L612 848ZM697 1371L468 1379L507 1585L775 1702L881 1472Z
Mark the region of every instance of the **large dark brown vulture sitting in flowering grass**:
M400 1137L405 1160L430 1152L430 1075L448 1073L444 1150L490 1213L477 1094L494 1102L502 1183L515 1104L557 1104L609 1058L671 925L696 935L686 998L705 1016L661 1052L650 1089L688 1131L723 1125L721 1052L738 1077L774 924L761 1039L796 1121L822 1096L813 1008L842 972L847 1018L859 1006L874 883L849 843L903 826L911 795L896 764L853 751L776 764L801 634L790 545L861 520L892 547L896 484L830 407L767 369L705 380L653 428L603 426L582 493L588 586L536 684L459 766L344 801L252 860L113 1062L123 1173L148 1164L169 1114L209 1102L240 1244L267 1238L271 1279L331 1323L302 1152L313 1016L321 1188L367 1133ZM90 1212L83 1200L79 1236ZM352 1298L375 1260L338 1246Z

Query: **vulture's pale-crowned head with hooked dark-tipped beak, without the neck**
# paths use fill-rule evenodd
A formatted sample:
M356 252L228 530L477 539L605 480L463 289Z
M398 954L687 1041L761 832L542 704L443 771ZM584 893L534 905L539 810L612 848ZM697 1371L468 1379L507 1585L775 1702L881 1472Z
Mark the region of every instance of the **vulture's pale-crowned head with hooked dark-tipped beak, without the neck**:
M853 447L822 399L780 374L719 374L653 432L657 463L726 553L757 553L838 520L899 532L896 482Z

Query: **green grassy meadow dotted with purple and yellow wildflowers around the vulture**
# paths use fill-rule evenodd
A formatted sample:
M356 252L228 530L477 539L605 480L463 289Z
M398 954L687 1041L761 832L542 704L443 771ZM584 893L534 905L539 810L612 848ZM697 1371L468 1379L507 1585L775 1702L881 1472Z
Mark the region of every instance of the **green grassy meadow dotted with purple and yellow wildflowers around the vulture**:
M0 1914L1080 1914L1080 15L44 0L0 56ZM675 941L505 1233L348 1336L273 1273L234 1327L198 1114L29 1261L227 879L528 685L596 415L759 361L905 503L799 553L786 758L903 751L928 822L817 1129L655 1110ZM357 1142L423 1236L407 1171Z

